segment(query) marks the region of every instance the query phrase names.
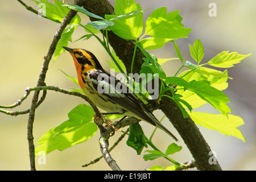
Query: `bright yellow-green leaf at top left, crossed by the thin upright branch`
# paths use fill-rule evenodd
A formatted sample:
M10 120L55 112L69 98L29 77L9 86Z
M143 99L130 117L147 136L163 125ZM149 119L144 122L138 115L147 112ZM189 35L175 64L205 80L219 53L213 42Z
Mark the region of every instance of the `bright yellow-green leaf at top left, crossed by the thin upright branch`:
M34 1L34 0L31 0ZM68 14L69 9L67 7L61 6L63 5L62 2L54 0L55 5L53 5L52 3L48 3L47 1L43 1L41 0L41 2L39 1L34 1L38 6L40 6L43 10L44 6L45 6L45 13L46 13L46 17L48 19L51 19L53 22L57 22L57 23L61 23L63 18ZM79 15L76 15L72 20L71 23L69 24L79 24L81 22L81 19L79 17Z

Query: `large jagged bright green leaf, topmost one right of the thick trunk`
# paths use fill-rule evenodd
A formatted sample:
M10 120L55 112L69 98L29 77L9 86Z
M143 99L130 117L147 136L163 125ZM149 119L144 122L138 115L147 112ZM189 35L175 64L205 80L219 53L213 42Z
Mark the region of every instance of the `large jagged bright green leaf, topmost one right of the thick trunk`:
M166 7L152 12L145 24L145 34L164 39L186 38L191 28L183 28L179 11L167 14Z

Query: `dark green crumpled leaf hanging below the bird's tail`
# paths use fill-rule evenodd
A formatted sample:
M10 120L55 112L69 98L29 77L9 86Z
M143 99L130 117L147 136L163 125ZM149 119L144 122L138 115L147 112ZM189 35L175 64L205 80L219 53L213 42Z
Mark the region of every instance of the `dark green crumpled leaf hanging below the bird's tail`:
M133 124L129 127L129 137L126 141L127 146L134 148L138 155L141 155L141 151L144 147L147 148L146 138L139 124Z

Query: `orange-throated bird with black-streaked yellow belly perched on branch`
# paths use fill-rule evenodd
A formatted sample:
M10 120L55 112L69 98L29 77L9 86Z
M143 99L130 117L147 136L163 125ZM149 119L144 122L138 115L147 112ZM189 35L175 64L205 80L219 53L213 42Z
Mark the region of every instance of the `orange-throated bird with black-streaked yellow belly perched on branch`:
M82 48L63 48L73 57L77 80L82 91L97 107L109 113L133 116L139 120L146 121L165 131L177 141L175 135L158 121L144 102L118 78L110 75L102 68L92 52ZM123 92L123 90L126 92Z

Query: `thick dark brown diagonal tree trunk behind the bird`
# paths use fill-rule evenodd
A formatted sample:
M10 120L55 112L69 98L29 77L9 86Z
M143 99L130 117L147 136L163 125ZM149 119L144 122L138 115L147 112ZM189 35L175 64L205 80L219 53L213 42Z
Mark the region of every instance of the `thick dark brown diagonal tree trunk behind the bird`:
M114 14L114 7L107 0L83 0L82 6L93 14L102 16L105 14ZM91 21L97 20L90 17ZM134 52L134 43L131 40L125 40L119 38L113 32L108 34L109 43L114 49L115 53L123 61L126 66L127 72L130 72L131 60ZM134 60L133 73L139 73L141 65L143 64L142 58L144 57L140 49L137 48L137 52ZM171 92L165 94L171 96ZM162 97L159 109L166 114L167 118L174 125L175 129L179 132L181 138L184 140L193 158L196 161L196 167L199 170L221 170L220 165L216 160L216 164L210 164L209 154L211 152L210 147L205 141L203 135L192 121L191 118L183 118L183 114L179 109L179 106L175 104L168 97Z

